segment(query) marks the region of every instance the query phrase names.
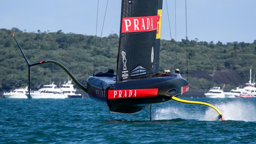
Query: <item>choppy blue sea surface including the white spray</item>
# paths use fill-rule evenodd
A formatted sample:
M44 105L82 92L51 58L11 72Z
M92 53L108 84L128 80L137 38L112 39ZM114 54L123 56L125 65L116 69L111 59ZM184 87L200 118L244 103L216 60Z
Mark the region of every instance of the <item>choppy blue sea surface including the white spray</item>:
M185 98L183 98L185 99ZM111 114L92 99L0 99L0 143L256 143L256 98L187 98L134 114Z

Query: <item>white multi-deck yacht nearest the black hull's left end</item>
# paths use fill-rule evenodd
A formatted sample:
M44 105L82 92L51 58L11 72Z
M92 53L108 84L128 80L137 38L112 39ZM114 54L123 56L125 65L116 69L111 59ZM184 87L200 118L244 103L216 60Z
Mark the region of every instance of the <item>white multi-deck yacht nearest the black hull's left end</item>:
M61 85L60 90L68 95L68 98L82 98L82 94L76 94L76 89L74 89L74 84L72 84L72 80L68 80L68 82L64 82Z

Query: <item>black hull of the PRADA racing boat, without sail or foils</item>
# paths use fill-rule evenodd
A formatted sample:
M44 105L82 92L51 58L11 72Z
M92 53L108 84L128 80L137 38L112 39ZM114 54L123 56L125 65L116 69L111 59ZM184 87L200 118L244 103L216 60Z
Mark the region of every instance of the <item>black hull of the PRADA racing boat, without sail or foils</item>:
M116 82L116 76L90 76L87 79L89 97L107 103L111 113L134 114L150 104L180 96L188 89L188 82L181 76L157 75L122 82Z

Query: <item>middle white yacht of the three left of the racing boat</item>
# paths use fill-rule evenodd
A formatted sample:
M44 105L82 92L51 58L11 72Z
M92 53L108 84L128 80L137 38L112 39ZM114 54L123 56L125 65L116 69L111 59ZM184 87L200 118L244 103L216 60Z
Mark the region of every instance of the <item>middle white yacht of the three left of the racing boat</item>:
M26 93L28 97L28 93ZM65 99L68 98L67 94L64 94L60 88L54 83L43 85L43 88L38 91L31 92L30 97L32 99Z

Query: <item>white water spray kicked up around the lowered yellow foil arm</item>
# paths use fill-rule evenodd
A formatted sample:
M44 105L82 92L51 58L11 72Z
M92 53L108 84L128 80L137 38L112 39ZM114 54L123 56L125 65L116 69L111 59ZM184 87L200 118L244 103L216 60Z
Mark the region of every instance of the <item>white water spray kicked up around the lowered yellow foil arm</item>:
M194 105L196 106L196 105ZM222 112L225 120L236 121L256 121L256 106L253 103L230 101L222 104L215 104ZM188 109L185 107L178 107L177 105L168 106L167 108L158 108L153 113L153 120L163 119L196 119L200 121L216 121L218 113L212 109Z

